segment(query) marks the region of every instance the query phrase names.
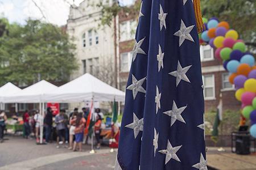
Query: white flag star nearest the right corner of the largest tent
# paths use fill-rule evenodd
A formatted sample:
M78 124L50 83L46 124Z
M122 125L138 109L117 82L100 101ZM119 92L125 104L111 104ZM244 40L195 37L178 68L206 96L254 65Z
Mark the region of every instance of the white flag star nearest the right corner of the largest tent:
M146 77L143 79L137 80L133 74L131 76L133 79L133 84L128 86L126 89L133 91L133 99L135 100L135 97L137 96L138 92L142 92L146 94L146 90L144 90L144 88L142 87L142 84L144 83L144 80L146 80Z

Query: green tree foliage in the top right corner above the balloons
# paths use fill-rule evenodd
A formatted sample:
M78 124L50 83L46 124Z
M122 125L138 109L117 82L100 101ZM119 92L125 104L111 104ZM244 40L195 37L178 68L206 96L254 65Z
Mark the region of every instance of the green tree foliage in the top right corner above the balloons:
M255 0L201 0L203 16L229 22L251 50L256 48Z

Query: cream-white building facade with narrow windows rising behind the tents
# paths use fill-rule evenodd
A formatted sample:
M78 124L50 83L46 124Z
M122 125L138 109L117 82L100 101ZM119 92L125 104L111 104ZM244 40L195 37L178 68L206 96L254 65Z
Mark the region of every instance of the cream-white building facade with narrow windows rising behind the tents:
M113 24L110 27L101 25L101 10L96 6L100 2L112 4L112 1L106 0L85 0L79 6L70 7L67 32L76 45L79 64L72 79L85 73L98 76L102 69L113 70L114 29Z

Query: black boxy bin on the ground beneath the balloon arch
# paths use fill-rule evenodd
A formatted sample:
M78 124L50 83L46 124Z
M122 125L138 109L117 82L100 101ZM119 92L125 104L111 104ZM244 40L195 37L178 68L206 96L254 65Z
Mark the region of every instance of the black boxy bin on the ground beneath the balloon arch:
M238 131L232 133L232 138L236 143L236 154L239 155L249 155L250 154L250 140L251 136L250 133L247 131Z

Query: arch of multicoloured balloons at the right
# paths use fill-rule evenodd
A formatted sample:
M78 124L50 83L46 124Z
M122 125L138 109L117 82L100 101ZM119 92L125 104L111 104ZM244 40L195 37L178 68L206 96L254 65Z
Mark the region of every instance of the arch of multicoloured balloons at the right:
M200 44L215 49L214 56L223 61L229 71L229 82L236 88L236 99L242 102L242 115L250 120L250 134L256 138L256 66L255 58L246 52L243 40L229 23L217 18L203 18L205 31L200 33Z

